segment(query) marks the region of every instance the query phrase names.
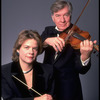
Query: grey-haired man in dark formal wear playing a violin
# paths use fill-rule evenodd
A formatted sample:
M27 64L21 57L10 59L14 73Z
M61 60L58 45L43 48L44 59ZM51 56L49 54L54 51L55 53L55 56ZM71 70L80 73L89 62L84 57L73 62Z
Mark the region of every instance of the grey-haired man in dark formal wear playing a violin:
M56 26L45 28L41 37L45 50L44 63L53 64L57 100L83 100L79 74L85 74L91 66L93 43L84 40L75 50L59 37L64 30L72 28L72 4L56 1L51 6L52 20Z

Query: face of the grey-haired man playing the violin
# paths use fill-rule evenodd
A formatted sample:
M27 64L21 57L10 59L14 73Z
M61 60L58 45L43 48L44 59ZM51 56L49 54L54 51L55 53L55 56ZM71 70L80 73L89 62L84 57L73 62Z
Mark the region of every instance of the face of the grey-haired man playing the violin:
M54 12L52 15L52 20L56 24L59 31L65 30L70 25L71 15L69 14L69 9L66 6L65 8Z

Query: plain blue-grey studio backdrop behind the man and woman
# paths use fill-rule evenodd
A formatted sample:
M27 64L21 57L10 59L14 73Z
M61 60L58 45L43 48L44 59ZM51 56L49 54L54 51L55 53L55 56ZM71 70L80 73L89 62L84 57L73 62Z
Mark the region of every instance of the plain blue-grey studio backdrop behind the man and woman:
M50 6L55 0L2 0L1 1L1 64L11 62L12 48L23 29L42 33L45 26L54 25ZM69 0L73 4L72 23L80 15L87 0ZM99 0L90 0L77 25L88 31L92 40L99 41ZM38 56L43 61L44 54ZM84 100L99 100L99 59L92 54L92 66L85 75L80 75Z

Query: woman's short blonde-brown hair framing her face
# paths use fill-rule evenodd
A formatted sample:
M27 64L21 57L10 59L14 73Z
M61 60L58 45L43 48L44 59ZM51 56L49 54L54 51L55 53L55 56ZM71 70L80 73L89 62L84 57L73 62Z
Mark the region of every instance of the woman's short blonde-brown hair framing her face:
M23 42L26 41L27 39L35 39L38 44L38 55L42 52L42 40L39 33L34 30L22 30L19 33L18 38L13 47L12 61L15 62L18 61L19 55L17 53L17 50L20 49Z

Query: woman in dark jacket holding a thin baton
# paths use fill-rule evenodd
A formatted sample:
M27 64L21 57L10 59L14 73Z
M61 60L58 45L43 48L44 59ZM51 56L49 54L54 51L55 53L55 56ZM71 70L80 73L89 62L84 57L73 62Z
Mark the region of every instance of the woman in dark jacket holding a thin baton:
M36 31L20 32L13 48L13 62L2 66L4 100L52 100L53 70L48 64L36 62L41 51L42 42Z

